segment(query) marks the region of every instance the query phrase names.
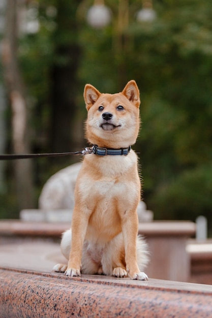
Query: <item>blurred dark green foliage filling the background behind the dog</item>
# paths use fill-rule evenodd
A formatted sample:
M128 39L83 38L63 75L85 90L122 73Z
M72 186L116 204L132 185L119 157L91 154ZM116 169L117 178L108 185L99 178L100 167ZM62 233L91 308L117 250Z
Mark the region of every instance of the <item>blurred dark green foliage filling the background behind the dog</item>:
M32 150L83 147L84 84L113 93L135 79L141 92L142 130L134 148L142 167L143 199L156 219L195 220L205 215L211 233L211 1L154 0L157 19L141 23L135 18L141 3L129 0L129 23L122 29L116 24L118 3L105 1L113 22L94 29L84 18L92 1L28 2L40 23L37 33L23 35L19 43L20 64L31 99ZM69 70L66 75L64 69ZM55 74L63 74L59 83ZM66 94L71 100L69 110L63 108ZM64 116L55 119L58 113L72 119L66 121L64 132L71 133L63 149L58 144L64 140L60 132ZM56 126L57 143L52 134ZM34 163L37 196L46 179L73 160ZM7 167L8 184L12 182L11 169ZM14 199L11 202L12 207L5 200L7 213L0 211L2 217L19 212L14 210Z

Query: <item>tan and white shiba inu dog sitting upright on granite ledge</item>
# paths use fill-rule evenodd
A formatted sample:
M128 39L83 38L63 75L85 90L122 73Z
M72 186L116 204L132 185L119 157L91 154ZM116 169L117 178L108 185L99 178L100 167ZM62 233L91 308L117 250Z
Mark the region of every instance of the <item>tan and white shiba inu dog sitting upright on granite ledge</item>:
M105 274L146 280L146 243L138 237L140 179L131 149L139 132L139 90L135 81L120 93L100 93L86 84L86 138L92 153L84 156L75 187L71 230L61 249L68 265L53 270L67 276Z

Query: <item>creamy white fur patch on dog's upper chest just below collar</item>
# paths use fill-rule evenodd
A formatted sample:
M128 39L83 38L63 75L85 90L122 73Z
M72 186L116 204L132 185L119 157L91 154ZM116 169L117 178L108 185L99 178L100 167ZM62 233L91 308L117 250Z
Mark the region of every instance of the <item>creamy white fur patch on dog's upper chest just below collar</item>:
M133 150L127 156L107 156L93 161L88 155L83 163L89 165L90 173L84 174L83 167L78 176L76 196L89 206L97 205L100 201L102 208L106 208L111 200L123 200L125 203L137 195L139 177L137 174L137 156ZM134 168L135 167L135 168ZM126 180L129 170L136 171L135 177ZM97 172L97 174L96 174ZM107 203L107 204L104 204ZM114 205L114 202L113 202Z

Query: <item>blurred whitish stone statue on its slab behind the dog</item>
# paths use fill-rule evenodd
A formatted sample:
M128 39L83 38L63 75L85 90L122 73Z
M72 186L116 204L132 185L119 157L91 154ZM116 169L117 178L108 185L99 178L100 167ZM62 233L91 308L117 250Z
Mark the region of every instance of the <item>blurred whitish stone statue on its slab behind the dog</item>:
M74 188L81 163L68 166L52 175L44 184L39 210L22 210L22 220L47 220L51 222L71 221L74 208ZM153 220L153 212L146 210L146 204L138 205L139 222Z

